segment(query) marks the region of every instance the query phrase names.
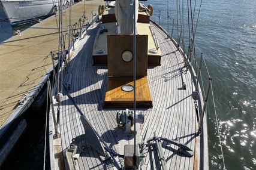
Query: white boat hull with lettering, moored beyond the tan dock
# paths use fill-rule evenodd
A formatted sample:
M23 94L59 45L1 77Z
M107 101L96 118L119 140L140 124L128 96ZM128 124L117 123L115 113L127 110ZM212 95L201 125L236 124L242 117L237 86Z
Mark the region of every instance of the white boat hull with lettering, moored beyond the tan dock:
M0 2L12 26L52 16L58 13L59 4L64 5L64 8L70 5L66 0L0 0ZM71 4L74 4L74 1Z

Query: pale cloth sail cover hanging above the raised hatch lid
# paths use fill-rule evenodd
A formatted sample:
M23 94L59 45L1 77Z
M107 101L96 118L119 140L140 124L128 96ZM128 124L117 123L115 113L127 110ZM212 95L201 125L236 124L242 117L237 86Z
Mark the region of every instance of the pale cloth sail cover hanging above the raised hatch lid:
M133 2L135 1L135 21L138 19L138 0L116 0L115 14L116 20L121 29L121 34L133 33L133 16L134 8Z

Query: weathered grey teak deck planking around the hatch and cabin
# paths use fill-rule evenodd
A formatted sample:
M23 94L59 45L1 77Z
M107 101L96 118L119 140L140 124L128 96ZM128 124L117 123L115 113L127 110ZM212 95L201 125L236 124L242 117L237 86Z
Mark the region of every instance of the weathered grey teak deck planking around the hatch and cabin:
M147 79L153 100L153 107L141 110L144 114L144 123L136 125L137 143L145 138L169 138L177 143L185 144L194 151L194 156L186 157L177 153L177 146L162 143L163 153L168 169L195 169L198 168L203 147L201 137L196 135L197 120L192 100L191 74L183 69L183 56L177 50L171 39L156 26L151 24L159 40L162 58L161 66L148 67ZM97 25L95 25L97 26ZM80 113L91 123L91 126L107 143L107 146L124 154L124 145L133 144L133 137L123 135L124 129L118 128L116 113L125 109L103 109L104 97L107 89L108 72L106 66L93 66L92 52L94 36L97 29L88 29L85 38L76 43L73 59L65 70L63 89L64 100L60 107L59 131L61 138L53 140L55 147L67 150L73 138L85 133ZM183 81L186 89L182 89ZM68 97L70 94L71 97ZM75 107L77 104L77 107ZM56 108L55 108L56 109ZM132 108L129 108L132 110ZM56 111L57 113L57 111ZM54 132L53 132L54 135ZM60 142L62 146L60 146ZM92 149L85 141L79 143L78 159L75 159L77 169L117 169L112 159L101 161L98 152ZM142 169L160 169L155 142L146 148ZM124 160L116 157L119 166ZM56 159L55 166L61 163ZM67 166L67 162L65 163Z

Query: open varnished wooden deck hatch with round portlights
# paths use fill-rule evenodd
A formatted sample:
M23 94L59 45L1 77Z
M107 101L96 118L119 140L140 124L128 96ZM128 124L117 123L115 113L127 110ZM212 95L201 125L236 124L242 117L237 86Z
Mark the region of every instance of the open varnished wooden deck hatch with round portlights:
M104 98L104 108L134 107L134 91L123 91L124 85L134 85L134 55L131 61L124 61L124 51L134 53L133 35L108 35L109 79ZM136 107L152 107L149 84L147 82L147 35L136 36Z

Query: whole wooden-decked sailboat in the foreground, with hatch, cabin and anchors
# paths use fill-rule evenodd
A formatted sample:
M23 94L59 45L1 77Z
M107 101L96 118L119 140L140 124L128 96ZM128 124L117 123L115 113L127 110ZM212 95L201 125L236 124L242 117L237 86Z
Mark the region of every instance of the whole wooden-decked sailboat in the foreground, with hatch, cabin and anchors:
M150 4L98 13L49 84L52 169L209 169L193 42L186 55Z

